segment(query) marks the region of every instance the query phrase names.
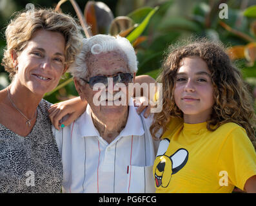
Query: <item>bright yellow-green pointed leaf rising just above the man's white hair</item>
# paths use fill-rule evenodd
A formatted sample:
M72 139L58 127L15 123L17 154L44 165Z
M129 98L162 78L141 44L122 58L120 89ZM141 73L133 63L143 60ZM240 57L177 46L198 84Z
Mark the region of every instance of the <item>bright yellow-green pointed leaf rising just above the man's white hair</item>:
M143 22L141 24L139 24L139 26L137 28L135 28L135 30L133 30L132 33L130 33L126 39L128 39L131 43L133 41L135 41L135 39L137 39L137 37L139 37L139 35L141 35L141 33L143 33L143 31L145 30L146 26L148 25L150 18L152 17L153 14L155 14L155 12L158 10L159 6L156 6L147 16L146 18L143 20Z

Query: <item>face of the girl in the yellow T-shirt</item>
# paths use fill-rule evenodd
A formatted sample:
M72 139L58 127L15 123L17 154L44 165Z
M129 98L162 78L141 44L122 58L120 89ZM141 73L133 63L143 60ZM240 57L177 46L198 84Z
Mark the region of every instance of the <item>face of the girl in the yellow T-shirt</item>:
M214 104L211 73L200 57L182 59L175 79L174 99L185 123L197 124L210 118Z

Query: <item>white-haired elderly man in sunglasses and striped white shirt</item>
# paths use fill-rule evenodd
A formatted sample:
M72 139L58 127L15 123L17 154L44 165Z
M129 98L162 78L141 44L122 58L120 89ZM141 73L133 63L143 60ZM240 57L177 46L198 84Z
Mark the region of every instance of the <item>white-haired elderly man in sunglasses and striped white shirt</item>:
M109 35L84 39L70 71L88 106L73 124L55 130L63 192L155 192L158 142L150 135L151 118L137 114L128 92L137 71L130 42Z

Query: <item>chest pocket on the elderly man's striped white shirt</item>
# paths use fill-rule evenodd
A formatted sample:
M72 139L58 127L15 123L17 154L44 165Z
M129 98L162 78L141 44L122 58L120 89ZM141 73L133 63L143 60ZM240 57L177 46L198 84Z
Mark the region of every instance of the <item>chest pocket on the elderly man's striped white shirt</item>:
M155 193L152 171L153 165L146 167L129 165L126 191L128 193Z

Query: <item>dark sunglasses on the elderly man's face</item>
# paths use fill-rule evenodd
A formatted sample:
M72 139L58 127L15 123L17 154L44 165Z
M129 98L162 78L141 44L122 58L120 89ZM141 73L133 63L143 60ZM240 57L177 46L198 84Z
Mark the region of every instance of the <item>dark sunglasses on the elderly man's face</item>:
M94 88L94 84L102 83L107 88L108 87L108 78L113 78L113 84L123 83L125 86L128 86L128 83L132 82L133 75L131 73L118 73L117 75L113 75L112 77L106 76L96 76L91 77L88 80L85 80L80 77L80 79L84 80L87 84L90 85L90 88Z

